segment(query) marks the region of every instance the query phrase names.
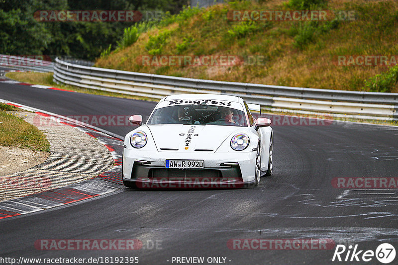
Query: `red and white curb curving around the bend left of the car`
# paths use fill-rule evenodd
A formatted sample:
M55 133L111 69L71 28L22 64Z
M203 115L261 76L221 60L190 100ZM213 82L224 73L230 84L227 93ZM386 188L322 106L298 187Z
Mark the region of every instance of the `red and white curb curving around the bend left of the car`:
M63 119L61 115L49 113L36 108L31 108L15 102L8 102L0 99L0 102L16 106L18 108L34 111L37 114L52 116ZM0 219L5 219L22 214L37 212L57 206L92 199L101 195L109 194L123 189L121 178L121 159L123 152L123 140L121 136L114 133L109 135L106 131L90 126L85 127L82 122L64 117L65 124L75 127L79 131L89 134L96 138L111 153L114 160L114 167L100 175L79 183L75 183L62 188L52 189L36 194L31 194L22 198L11 199L0 202Z

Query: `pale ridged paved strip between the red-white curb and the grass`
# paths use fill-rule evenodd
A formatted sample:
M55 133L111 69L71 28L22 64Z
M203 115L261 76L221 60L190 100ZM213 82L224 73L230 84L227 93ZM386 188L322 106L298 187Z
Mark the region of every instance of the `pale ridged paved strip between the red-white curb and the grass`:
M51 154L39 165L0 176L0 201L87 180L113 167L109 150L78 128L32 112L17 112L16 115L44 132L51 145Z

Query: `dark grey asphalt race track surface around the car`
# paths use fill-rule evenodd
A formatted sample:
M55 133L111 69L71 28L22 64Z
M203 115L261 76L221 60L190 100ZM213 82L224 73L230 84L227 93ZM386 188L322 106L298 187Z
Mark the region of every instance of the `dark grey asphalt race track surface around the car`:
M153 102L5 83L0 83L0 98L65 116L148 116L155 106ZM122 136L132 130L128 126L102 128ZM335 246L326 250L239 250L228 242L312 238L329 239L336 245L358 244L358 250L364 251L376 251L381 243L397 249L398 190L338 189L332 180L398 177L398 129L334 122L280 125L273 130L274 172L272 177L263 177L257 188L125 188L52 210L6 218L0 221L0 256L138 257L138 264L182 264L173 257L204 257L204 261L222 257L231 265L318 265L350 262L332 262ZM41 239L139 239L143 247L129 251L37 250L34 244ZM154 242L158 245L152 246ZM341 257L345 256L346 252ZM367 264L380 263L373 257Z

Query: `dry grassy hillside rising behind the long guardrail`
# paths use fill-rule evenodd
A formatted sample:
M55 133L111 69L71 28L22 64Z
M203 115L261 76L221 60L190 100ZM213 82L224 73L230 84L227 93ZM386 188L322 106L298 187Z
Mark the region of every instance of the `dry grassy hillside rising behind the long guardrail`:
M231 21L230 10L353 10L354 20ZM328 13L329 14L329 13ZM329 16L328 16L329 17ZM188 8L138 27L134 44L104 53L96 66L224 81L398 92L398 66L341 66L338 56L398 55L395 0L231 1ZM261 56L263 65L143 66L150 55ZM152 61L151 61L152 62Z

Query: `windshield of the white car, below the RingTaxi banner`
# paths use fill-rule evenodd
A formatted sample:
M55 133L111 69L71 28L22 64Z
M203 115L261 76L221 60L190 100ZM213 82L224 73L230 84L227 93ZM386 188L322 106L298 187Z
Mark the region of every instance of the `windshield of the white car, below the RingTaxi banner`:
M207 104L186 104L156 109L148 124L195 124L247 127L243 111Z

